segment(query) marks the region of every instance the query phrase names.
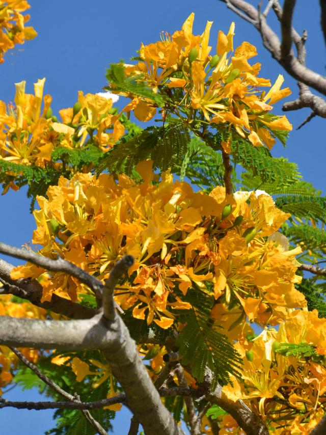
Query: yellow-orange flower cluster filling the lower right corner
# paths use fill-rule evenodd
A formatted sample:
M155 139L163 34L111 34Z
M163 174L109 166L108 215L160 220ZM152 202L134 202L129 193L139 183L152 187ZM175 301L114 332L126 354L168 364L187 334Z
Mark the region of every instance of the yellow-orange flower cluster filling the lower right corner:
M233 378L223 392L233 401L248 400L273 433L309 433L326 407L326 319L317 310L294 310L278 331L247 337L235 345L243 357L242 379ZM295 354L293 345L312 346L314 354ZM229 415L221 426L222 433L242 433Z

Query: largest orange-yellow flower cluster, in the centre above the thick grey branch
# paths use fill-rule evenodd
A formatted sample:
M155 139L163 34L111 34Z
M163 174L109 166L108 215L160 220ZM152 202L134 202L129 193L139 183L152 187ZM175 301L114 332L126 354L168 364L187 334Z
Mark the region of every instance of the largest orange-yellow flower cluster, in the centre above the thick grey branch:
M119 258L132 255L135 264L116 301L161 328L177 323L176 310L191 308L189 289L214 298L211 315L232 338L245 328L246 317L276 324L306 306L294 288L300 249L288 251L278 237L289 215L271 197L225 195L224 187L195 193L189 184L173 182L169 172L152 184L158 176L151 160L137 170L141 184L125 175L117 183L106 174L76 174L50 186L48 199L38 197L40 210L34 211L33 243L42 246L40 254L59 254L102 280ZM75 278L29 263L12 272L13 279L27 277L42 284L42 301L53 293L77 301L87 292ZM234 323L237 328L230 328Z

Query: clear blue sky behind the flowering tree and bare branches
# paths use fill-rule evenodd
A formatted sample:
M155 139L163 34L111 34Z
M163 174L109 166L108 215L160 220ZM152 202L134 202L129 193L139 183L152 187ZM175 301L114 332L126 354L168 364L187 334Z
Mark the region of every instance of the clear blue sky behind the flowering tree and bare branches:
M38 78L46 77L45 93L53 97L53 112L71 107L76 101L78 90L84 93L101 91L105 86L104 72L108 64L120 59L129 62L141 42L147 44L157 41L162 30L171 33L179 30L191 12L195 12L195 34L202 33L207 20L214 21L210 40L213 47L218 30L227 32L230 22L235 21L235 45L243 40L256 45L258 57L254 61L262 63L260 75L274 81L278 74L284 74L284 86L289 86L293 93L287 100L296 97L295 80L271 58L262 46L257 31L217 0L166 0L164 3L130 0L29 2L32 6L29 11L30 23L38 36L33 41L16 46L7 54L5 63L0 65L0 99L6 102L14 99L14 83L26 80L27 91L33 92L33 83ZM252 3L257 5L258 0L252 0ZM296 3L296 30L299 33L304 29L308 31L307 66L325 74L326 53L319 25L319 1L298 0ZM270 22L279 29L275 19ZM281 105L278 103L275 106L274 113L282 114ZM277 143L273 155L297 162L304 178L322 190L325 180L324 120L314 118L301 130L295 130L308 114L308 109L287 114L294 130L287 148ZM0 197L0 210L1 241L21 246L31 240L35 223L29 213L29 201L24 190ZM17 264L13 259L9 261ZM36 393L22 394L17 388L5 397L11 400L38 400ZM116 434L123 435L128 431L129 414L120 414L114 428ZM51 415L52 411L0 410L0 431L3 435L41 435L52 427Z

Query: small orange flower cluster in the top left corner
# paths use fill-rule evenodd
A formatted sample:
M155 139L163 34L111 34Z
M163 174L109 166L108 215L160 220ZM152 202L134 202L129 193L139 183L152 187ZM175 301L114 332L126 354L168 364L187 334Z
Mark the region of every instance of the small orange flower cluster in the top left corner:
M36 37L33 27L25 26L30 15L22 15L29 8L25 0L0 1L0 64L4 62L6 51Z

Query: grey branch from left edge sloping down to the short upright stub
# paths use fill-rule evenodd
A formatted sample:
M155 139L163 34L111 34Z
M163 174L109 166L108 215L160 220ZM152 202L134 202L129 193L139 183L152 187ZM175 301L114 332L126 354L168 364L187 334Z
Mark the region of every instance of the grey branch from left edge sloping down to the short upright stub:
M101 300L102 298L103 284L98 279L88 274L85 270L80 269L80 267L70 263L69 261L63 260L62 258L51 260L50 258L42 257L31 250L15 248L9 244L1 242L0 252L10 255L11 257L27 260L30 263L44 267L47 270L65 272L66 274L77 278L80 282L88 285L94 291L98 300Z

